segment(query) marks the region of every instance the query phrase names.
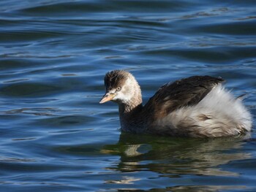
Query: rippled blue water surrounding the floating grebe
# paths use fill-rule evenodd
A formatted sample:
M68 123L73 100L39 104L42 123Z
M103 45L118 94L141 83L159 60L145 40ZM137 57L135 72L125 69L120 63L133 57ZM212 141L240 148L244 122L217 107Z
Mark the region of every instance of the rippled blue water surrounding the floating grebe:
M124 134L99 104L127 69L143 101L221 76L256 114L255 1L0 1L0 191L256 191L256 134Z

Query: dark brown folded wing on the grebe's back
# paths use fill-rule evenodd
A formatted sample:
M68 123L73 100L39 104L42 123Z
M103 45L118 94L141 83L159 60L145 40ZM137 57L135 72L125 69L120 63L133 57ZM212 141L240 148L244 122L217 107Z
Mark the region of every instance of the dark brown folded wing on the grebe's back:
M152 96L144 111L151 120L164 118L181 107L199 103L216 85L223 82L221 77L193 76L162 85Z

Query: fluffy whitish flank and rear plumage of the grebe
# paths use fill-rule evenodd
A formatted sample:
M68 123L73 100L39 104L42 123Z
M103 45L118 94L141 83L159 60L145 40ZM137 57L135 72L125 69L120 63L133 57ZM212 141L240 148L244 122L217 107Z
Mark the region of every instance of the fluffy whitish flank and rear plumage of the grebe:
M189 128L192 137L223 137L251 131L252 117L241 99L217 85L198 104L157 120L157 128Z

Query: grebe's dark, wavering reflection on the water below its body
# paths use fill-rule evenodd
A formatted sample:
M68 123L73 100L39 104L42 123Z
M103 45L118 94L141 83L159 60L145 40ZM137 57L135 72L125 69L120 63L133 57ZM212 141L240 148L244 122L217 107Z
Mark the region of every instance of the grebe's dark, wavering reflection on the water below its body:
M118 143L106 145L102 153L120 155L118 165L108 169L121 172L147 170L161 177L180 177L181 174L237 176L238 173L223 170L221 166L251 157L241 150L248 137L191 139L122 133Z

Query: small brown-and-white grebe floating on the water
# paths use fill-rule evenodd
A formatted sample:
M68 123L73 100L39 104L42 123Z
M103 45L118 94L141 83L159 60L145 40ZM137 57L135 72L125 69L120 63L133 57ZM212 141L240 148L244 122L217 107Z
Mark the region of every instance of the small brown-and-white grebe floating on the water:
M118 104L122 131L174 137L227 137L251 131L252 116L221 77L192 76L168 82L143 106L140 85L124 70L105 74L100 104Z

